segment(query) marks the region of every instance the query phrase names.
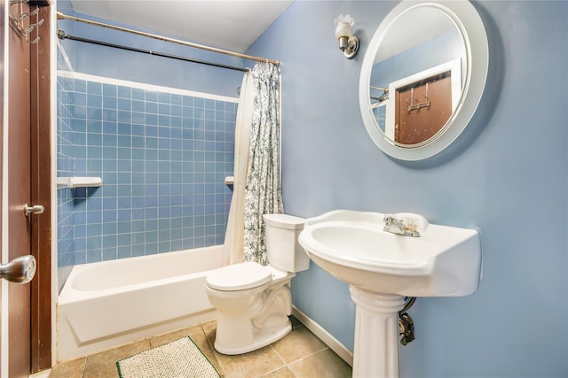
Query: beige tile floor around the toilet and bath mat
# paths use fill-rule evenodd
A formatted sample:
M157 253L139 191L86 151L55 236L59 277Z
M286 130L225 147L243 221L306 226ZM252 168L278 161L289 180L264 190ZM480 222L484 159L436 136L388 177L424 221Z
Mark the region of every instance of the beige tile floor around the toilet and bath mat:
M226 378L339 378L351 377L351 366L292 317L292 331L281 340L257 351L226 356L213 349L216 321L208 321L162 336L154 336L119 348L102 351L55 366L50 378L117 377L115 363L141 351L190 336L209 361Z

